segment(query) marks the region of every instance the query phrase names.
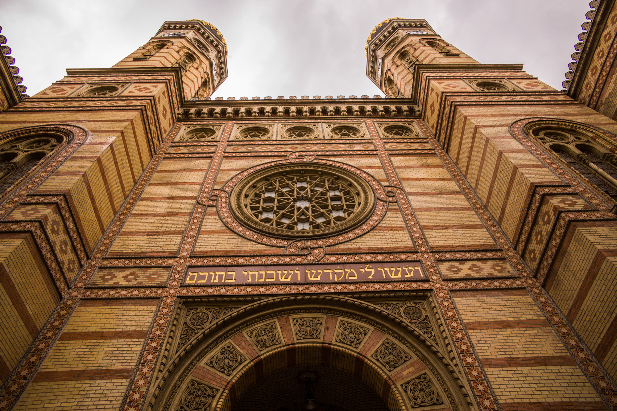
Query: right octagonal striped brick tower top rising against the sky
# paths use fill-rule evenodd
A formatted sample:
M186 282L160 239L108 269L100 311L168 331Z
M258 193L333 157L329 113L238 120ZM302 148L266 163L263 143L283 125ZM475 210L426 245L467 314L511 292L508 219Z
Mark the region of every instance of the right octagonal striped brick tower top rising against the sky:
M441 38L424 19L384 20L366 40L366 75L386 96L412 98L419 64L479 64Z

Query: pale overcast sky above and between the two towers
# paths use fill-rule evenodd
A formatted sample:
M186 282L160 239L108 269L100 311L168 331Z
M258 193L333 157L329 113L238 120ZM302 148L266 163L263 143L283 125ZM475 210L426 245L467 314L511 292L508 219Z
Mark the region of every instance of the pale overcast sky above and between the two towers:
M561 89L587 10L583 0L0 0L0 25L30 95L65 68L114 65L165 20L201 19L229 49L213 96L373 96L364 46L389 17L426 19L479 62L523 63Z

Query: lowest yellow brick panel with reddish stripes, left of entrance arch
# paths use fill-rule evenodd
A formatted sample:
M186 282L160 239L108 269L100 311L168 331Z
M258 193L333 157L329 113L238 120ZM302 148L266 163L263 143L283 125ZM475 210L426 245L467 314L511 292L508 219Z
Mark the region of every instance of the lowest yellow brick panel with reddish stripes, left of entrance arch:
M14 409L118 409L158 304L80 302Z

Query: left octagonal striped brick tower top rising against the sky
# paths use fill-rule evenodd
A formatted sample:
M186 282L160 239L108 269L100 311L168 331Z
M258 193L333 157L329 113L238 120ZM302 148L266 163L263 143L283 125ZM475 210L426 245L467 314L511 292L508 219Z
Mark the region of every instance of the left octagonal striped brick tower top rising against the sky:
M227 44L203 20L167 21L114 67L180 67L184 99L208 98L227 78Z

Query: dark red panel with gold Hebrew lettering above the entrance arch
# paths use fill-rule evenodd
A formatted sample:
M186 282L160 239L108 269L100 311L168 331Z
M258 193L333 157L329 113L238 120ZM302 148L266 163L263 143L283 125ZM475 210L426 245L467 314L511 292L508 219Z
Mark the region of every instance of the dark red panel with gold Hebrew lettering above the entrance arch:
M255 265L249 267L189 267L184 285L203 286L255 283L350 283L422 281L420 262L371 264Z

